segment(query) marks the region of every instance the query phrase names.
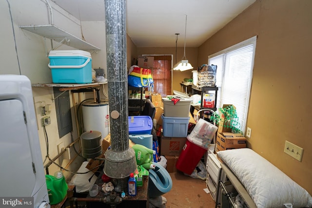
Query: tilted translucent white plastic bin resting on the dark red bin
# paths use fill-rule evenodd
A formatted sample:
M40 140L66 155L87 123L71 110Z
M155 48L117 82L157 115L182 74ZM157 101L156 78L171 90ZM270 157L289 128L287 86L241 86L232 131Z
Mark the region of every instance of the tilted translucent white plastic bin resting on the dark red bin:
M202 148L205 148L208 150L208 146L213 140L215 136L215 132L218 130L218 128L209 123L208 121L205 121L204 119L200 118L192 132L187 135L187 138L193 142L195 145L198 145Z

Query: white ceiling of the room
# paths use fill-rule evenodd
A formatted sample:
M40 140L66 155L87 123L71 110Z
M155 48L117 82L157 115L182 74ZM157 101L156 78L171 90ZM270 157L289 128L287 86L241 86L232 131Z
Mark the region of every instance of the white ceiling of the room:
M105 20L104 0L53 0L81 21ZM126 0L127 34L137 47L198 47L255 0Z

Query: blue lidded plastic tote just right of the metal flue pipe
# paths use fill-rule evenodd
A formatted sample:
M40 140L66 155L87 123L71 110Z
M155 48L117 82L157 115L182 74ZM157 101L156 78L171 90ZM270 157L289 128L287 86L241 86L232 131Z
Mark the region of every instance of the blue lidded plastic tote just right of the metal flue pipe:
M153 121L148 115L128 117L129 134L152 134Z

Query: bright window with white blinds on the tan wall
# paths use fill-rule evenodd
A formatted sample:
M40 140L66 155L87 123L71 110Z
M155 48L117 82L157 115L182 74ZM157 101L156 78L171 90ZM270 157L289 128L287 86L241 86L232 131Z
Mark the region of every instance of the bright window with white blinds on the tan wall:
M247 39L208 57L209 65L217 65L217 108L233 104L245 132L254 68L256 37Z

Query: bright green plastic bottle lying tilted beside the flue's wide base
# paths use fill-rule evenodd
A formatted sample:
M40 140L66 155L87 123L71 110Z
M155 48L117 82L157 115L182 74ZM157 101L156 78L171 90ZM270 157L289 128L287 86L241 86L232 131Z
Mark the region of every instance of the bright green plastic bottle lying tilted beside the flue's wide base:
M153 164L153 154L156 154L155 150L139 144L135 144L132 148L136 152L137 165L142 165L147 170L155 169Z

